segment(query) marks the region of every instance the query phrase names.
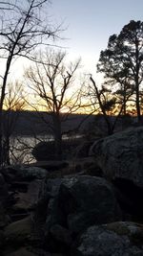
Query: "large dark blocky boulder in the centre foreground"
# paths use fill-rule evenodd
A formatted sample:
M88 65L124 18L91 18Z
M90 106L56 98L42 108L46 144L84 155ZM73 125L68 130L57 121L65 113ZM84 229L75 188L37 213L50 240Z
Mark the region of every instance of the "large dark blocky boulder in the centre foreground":
M112 185L101 177L85 175L64 180L59 190L59 205L67 215L72 233L120 218Z

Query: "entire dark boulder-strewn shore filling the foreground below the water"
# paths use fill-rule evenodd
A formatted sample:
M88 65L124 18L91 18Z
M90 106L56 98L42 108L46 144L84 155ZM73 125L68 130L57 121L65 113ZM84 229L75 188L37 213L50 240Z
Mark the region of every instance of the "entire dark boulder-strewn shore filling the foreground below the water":
M132 128L74 163L1 169L0 255L142 256L142 149Z

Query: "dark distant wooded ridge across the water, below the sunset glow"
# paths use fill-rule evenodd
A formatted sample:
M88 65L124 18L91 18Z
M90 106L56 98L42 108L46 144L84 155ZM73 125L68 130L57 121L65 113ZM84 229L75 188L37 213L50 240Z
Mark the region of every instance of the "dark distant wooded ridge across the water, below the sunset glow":
M47 112L36 111L4 111L5 128L13 126L12 135L44 135L51 134L51 115ZM112 122L114 117L110 116ZM129 122L130 118L130 122ZM125 117L124 117L125 119ZM135 117L128 117L127 125L135 123ZM123 117L120 117L116 125L117 128L123 125ZM126 122L125 122L126 123ZM126 125L126 124L125 124ZM101 128L105 130L106 124L103 115L88 115L88 114L71 114L69 118L62 123L62 131L83 133L92 128Z

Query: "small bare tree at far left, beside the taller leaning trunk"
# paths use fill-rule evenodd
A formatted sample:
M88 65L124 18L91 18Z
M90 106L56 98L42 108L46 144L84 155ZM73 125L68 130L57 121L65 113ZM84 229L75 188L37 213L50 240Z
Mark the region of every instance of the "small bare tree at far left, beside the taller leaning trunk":
M15 127L17 126L20 112L26 107L26 102L24 100L22 84L17 81L15 83L9 83L7 87L8 91L5 96L5 109L3 111L2 162L10 164L10 151L13 151L13 145L10 143L11 136L15 135Z

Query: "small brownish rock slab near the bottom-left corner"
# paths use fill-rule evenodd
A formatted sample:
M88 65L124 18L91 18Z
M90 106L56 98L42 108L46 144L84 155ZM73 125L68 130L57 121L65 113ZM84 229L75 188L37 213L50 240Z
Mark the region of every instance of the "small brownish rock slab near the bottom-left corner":
M7 243L25 243L31 240L31 217L10 223L4 231Z

